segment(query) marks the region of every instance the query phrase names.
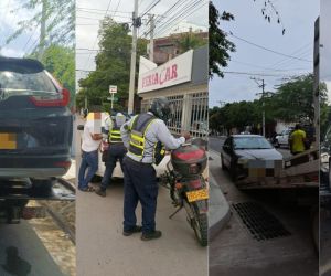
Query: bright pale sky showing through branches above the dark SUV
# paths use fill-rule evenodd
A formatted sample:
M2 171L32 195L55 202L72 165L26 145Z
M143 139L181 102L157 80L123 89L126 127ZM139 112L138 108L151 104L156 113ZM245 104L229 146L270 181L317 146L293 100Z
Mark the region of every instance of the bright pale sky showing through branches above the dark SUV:
M42 7L45 8L45 40L39 41L32 52L41 44L45 47L51 44L74 46L75 40L75 1L73 0L23 0L22 8L31 12L31 18L18 22L19 29L10 35L6 44L15 40L28 30L40 29L43 20Z

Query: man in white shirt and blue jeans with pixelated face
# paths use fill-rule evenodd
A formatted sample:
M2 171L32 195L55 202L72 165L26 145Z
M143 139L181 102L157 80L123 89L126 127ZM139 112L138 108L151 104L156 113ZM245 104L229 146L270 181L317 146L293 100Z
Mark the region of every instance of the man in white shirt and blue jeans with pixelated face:
M95 128L95 120L87 119L83 131L82 162L78 171L78 190L83 192L94 191L88 183L98 170L98 148L103 135L98 134Z

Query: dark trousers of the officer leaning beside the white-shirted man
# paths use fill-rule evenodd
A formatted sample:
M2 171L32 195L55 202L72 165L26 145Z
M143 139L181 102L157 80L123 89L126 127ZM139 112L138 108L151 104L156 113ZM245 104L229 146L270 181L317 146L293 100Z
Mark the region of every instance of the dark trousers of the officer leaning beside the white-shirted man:
M100 188L106 190L107 185L110 184L113 171L116 167L116 162L119 161L122 170L122 158L127 152L126 147L122 144L114 144L108 149L108 161L106 162L106 171L103 177Z

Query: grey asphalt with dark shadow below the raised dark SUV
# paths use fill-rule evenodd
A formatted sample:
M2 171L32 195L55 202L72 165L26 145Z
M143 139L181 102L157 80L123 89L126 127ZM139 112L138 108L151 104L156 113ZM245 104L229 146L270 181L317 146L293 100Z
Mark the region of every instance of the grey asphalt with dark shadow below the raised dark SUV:
M63 276L31 225L0 224L0 275Z

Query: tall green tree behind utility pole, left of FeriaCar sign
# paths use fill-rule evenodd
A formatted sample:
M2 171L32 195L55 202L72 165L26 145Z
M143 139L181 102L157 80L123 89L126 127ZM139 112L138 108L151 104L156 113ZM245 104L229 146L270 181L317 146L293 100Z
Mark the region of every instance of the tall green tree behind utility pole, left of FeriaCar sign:
M96 55L96 70L84 79L79 79L81 91L77 94L78 107L84 106L84 98L89 105L108 108L109 85L117 85L115 109L122 109L128 99L130 78L131 41L127 24L117 23L107 17L102 21L99 29L99 53ZM138 40L137 56L146 54L147 42ZM137 59L138 75L139 59ZM137 79L137 77L136 77ZM109 103L109 102L108 102Z

